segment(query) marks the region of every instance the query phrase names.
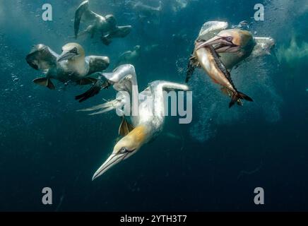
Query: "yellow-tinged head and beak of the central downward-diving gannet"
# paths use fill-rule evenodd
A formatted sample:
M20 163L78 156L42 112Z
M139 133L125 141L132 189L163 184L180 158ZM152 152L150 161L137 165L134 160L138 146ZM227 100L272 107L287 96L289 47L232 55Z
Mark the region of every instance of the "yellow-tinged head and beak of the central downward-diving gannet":
M108 159L100 166L99 169L93 175L92 180L100 177L108 169L117 165L117 163L125 160L131 155L134 155L146 141L146 128L145 126L137 126L129 134L124 136L116 145L112 154Z

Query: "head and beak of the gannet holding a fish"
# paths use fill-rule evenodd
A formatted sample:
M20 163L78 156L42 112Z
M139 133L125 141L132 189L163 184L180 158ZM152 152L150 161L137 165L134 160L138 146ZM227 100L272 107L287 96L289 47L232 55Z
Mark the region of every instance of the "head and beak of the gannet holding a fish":
M197 42L196 50L207 45L215 45L216 52L238 52L251 44L253 37L247 30L228 29L222 30L208 41Z

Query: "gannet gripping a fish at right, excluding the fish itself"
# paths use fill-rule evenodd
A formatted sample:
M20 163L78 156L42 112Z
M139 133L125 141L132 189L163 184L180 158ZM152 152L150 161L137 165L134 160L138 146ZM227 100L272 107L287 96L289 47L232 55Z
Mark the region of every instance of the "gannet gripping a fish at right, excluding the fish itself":
M271 48L275 45L275 40L271 37L254 37L251 32L240 29L227 29L228 23L223 21L208 21L203 24L196 40L198 43L192 53L189 69L196 67L195 52L206 45L213 45L215 51L220 55L220 60L228 70L232 70L244 59L251 57L261 57L270 54ZM194 71L188 71L186 82L189 81Z

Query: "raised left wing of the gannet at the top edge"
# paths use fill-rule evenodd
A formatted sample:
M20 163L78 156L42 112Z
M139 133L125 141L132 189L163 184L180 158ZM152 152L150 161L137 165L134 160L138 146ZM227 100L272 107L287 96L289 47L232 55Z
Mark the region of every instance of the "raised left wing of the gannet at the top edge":
M100 15L90 11L89 9L89 1L83 1L80 6L78 6L76 13L75 13L75 20L74 20L74 30L75 30L75 37L78 35L79 25L81 24L81 18L85 20L99 20L101 18Z

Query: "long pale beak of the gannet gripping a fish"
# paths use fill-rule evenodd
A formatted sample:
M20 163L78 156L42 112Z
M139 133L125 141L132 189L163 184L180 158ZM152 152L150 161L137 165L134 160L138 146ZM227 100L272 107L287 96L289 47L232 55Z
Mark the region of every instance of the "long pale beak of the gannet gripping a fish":
M212 37L210 40L205 42L197 42L196 43L196 50L206 47L208 45L215 45L215 50L218 53L222 52L237 52L239 50L239 46L233 44L232 41L228 41L227 37L222 37L216 35Z

